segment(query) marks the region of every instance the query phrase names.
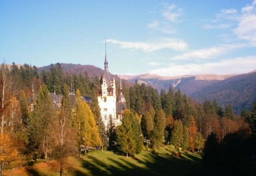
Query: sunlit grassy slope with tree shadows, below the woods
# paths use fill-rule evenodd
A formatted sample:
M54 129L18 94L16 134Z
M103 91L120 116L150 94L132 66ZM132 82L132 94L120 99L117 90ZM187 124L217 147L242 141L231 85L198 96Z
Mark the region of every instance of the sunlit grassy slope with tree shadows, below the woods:
M108 151L91 152L80 160L69 158L72 168L65 170L65 175L194 175L201 169L199 156L181 152L181 157L177 158L174 152L171 147L164 147L157 151L158 154L142 151L129 158ZM59 175L50 168L43 162L23 168L20 175Z

